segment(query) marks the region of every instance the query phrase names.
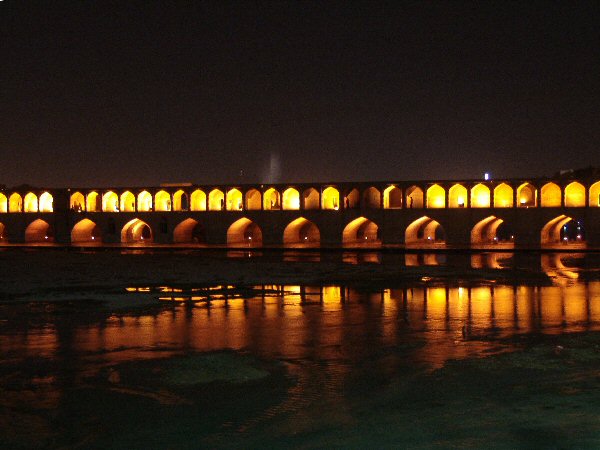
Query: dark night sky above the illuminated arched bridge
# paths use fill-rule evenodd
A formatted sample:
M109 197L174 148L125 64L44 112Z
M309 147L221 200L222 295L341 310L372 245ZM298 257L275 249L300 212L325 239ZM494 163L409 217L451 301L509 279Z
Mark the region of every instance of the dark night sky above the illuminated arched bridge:
M0 17L8 186L600 166L597 1L4 0Z

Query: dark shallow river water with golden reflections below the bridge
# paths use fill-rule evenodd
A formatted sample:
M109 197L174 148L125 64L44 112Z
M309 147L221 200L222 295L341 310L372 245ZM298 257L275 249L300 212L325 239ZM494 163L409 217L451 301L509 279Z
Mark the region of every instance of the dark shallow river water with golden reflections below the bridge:
M134 277L96 286L97 298L5 294L0 447L600 446L598 255L224 257L248 256L544 278L482 272L390 287ZM64 257L44 258L63 279ZM107 303L103 290L124 300Z

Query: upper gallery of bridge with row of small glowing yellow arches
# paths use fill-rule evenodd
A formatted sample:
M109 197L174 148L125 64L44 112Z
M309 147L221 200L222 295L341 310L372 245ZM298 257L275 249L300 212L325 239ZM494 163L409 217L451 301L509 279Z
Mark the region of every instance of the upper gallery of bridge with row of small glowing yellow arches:
M600 177L0 190L0 213L521 207L600 207Z

